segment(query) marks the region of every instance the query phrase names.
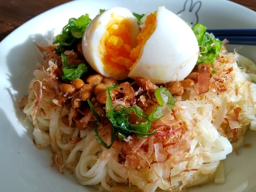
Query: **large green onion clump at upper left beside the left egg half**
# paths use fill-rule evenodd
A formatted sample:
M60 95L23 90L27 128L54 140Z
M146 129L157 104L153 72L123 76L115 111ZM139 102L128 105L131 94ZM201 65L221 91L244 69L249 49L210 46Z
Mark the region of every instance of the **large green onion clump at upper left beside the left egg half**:
M62 33L55 37L53 44L59 44L55 53L60 55L64 50L76 50L77 43L91 21L89 14L84 14L78 19L70 18L68 24L62 28Z

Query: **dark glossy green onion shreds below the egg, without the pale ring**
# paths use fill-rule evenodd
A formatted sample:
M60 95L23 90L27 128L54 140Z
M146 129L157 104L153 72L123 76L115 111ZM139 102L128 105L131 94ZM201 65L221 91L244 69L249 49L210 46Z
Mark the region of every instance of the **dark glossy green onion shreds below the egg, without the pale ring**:
M100 116L94 109L90 100L87 100L89 106L96 118L97 123L94 126L95 139L104 147L111 148L115 140L115 135L118 135L119 140L124 141L129 135L136 134L141 138L147 135L156 134L156 130L149 132L151 129L151 123L149 121L148 115L138 106L132 106L125 108L122 105L117 105L113 108L112 100L110 97L110 91L113 89L119 89L121 85L111 85L107 88L107 101L106 101L106 117L111 123L111 142L109 145L99 136L98 125L100 121ZM129 122L129 115L133 114L138 117L138 124L132 124Z

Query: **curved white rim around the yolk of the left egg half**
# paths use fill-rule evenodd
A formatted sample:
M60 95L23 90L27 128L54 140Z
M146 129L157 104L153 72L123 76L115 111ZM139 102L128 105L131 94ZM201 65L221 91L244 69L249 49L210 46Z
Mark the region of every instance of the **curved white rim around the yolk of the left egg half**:
M119 73L119 71L114 68L112 69L111 73L106 71L103 67L105 63L102 62L102 54L99 51L101 37L105 33L108 33L106 28L109 22L115 20L117 17L122 17L129 20L131 25L130 33L132 36L132 41L134 41L134 44L136 44L136 37L139 33L137 18L134 17L129 9L124 7L113 7L100 13L91 21L82 39L82 50L86 61L95 71L106 77L113 77L117 80L123 80L127 78L129 69L127 69L125 73Z

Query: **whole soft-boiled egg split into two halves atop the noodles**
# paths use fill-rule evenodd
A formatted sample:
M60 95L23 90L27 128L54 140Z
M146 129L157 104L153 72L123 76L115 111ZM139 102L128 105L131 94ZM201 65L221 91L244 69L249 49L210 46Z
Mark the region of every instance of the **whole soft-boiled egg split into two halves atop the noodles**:
M142 26L139 31L137 19L123 7L102 12L83 36L85 59L117 80L143 77L162 84L188 76L199 54L190 26L164 6L148 14Z

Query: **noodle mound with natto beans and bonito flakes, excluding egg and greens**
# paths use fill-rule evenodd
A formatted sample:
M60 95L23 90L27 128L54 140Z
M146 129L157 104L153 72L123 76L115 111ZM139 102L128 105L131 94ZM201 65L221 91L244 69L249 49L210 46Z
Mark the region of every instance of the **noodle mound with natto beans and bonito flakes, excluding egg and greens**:
M86 63L81 43L77 46L77 51L65 51L69 63ZM242 145L247 129L256 130L256 85L225 46L213 67L202 63L183 81L167 84L144 78L118 82L93 70L63 82L63 63L54 46L38 48L44 62L34 72L23 112L34 125L35 145L51 146L53 164L60 172L70 170L81 185L100 191L180 191L212 180L221 183L222 160ZM107 87L113 84L120 86L108 98ZM174 96L173 109L150 122L148 135L120 139L116 133L111 143L106 101L117 110L137 106L149 115L158 106L154 93L159 87ZM139 122L134 113L127 116L131 123Z

